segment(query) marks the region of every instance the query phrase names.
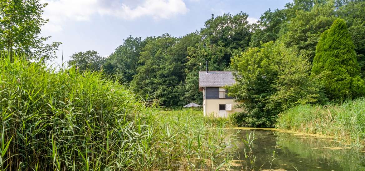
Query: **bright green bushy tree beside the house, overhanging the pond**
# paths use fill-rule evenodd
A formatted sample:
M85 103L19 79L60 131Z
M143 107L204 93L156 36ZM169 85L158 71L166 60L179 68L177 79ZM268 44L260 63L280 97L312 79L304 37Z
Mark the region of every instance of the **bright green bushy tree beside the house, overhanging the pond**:
M237 83L228 94L243 103L244 112L233 116L241 126L273 127L280 112L296 105L326 101L310 63L283 44L269 42L236 55L231 67Z

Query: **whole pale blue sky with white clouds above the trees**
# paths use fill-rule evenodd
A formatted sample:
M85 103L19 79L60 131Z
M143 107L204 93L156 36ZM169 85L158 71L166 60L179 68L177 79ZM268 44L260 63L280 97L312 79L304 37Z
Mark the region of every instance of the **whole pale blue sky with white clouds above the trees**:
M250 23L260 19L269 8L282 9L288 0L167 0L167 1L117 1L117 0L41 0L48 3L43 18L49 22L42 27L41 36L51 36L46 43L62 42L52 65L70 59L74 53L95 50L107 57L123 44L123 39L133 37L184 36L204 27L204 22L214 14L245 12Z

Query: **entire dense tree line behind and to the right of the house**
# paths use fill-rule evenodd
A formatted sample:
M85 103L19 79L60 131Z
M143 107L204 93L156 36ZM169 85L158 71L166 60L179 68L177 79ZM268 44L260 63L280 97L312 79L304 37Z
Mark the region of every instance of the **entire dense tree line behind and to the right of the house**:
M182 37L128 37L103 64L143 98L167 107L202 103L198 71L237 70L232 96L245 100L234 119L273 126L280 112L307 103L364 95L365 1L294 0L257 23L240 12L214 16ZM313 66L313 68L312 68Z

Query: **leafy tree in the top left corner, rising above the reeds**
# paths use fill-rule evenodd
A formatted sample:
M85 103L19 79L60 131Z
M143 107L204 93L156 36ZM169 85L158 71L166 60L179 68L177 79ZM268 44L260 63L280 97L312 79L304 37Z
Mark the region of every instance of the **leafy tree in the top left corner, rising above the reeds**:
M39 0L1 0L0 1L0 50L24 53L29 59L48 60L55 57L59 42L45 44L50 36L41 37L43 8L47 4Z

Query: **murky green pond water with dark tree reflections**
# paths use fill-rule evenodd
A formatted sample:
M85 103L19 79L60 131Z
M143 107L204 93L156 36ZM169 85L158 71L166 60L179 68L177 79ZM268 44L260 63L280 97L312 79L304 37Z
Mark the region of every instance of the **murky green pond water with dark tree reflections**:
M299 171L365 171L365 152L343 147L331 138L320 138L310 135L297 135L273 130L227 130L228 134L236 134L233 140L233 170L242 170L238 160L244 160L246 134L254 131L253 155L256 158L255 170L269 169L269 159L277 144L272 170ZM278 142L277 142L278 141ZM335 148L334 148L335 147ZM337 147L337 148L336 148ZM247 151L247 148L246 148Z

